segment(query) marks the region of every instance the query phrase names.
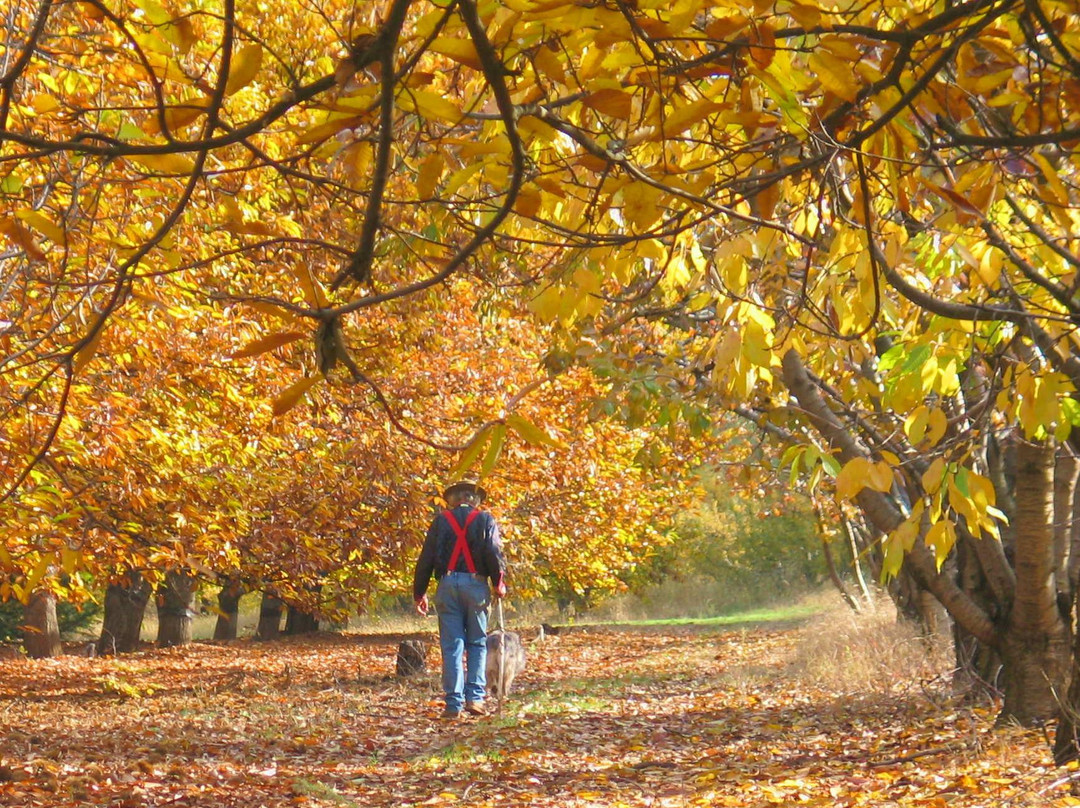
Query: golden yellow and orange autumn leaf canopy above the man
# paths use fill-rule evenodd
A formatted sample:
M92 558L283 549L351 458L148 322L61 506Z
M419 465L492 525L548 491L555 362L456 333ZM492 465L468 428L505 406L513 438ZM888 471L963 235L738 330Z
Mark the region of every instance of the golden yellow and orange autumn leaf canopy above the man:
M266 561L342 524L342 468L415 514L437 446L588 554L580 506L621 504L617 547L647 496L622 463L707 459L727 410L932 577L1002 529L988 436L1080 419L1072 3L15 0L5 26L24 591L76 568L92 489L122 491L103 536ZM233 551L153 516L192 468ZM553 479L578 500L532 501Z

